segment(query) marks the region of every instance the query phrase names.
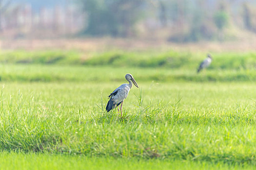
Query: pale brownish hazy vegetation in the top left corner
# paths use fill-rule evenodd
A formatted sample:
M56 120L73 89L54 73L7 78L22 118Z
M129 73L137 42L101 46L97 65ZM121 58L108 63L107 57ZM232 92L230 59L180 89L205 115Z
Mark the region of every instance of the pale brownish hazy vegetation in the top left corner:
M41 6L0 0L0 35L3 38L57 38L77 34L84 27L84 15L74 5ZM1 4L3 3L3 4Z

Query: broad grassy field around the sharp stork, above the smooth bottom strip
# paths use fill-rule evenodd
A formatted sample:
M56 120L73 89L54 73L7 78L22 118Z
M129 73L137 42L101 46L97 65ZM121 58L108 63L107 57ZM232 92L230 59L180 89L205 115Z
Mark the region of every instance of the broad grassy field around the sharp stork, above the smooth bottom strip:
M256 161L254 84L138 82L142 96L132 88L123 119L117 110L105 113L98 108L102 97L104 109L107 95L120 83L115 84L6 83L0 149L232 164Z

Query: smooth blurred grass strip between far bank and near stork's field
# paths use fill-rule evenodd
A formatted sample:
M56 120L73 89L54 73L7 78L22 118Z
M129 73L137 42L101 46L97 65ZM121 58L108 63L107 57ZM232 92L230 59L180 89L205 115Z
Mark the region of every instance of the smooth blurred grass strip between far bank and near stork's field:
M112 66L0 65L3 82L120 82L131 73L142 82L253 82L256 71L207 69L134 68ZM117 74L118 73L118 74Z

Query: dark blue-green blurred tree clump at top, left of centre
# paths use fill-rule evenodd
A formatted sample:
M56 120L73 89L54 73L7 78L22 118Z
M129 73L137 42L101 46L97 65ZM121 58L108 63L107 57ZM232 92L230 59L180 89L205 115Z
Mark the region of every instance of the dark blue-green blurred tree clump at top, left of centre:
M84 33L91 35L130 36L134 25L143 17L145 0L81 0L87 13Z

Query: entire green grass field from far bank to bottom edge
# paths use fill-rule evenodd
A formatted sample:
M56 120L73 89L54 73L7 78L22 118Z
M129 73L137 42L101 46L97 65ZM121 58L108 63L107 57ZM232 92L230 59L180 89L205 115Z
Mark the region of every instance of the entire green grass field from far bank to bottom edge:
M12 60L5 60L10 53ZM35 53L28 57L37 58ZM39 52L48 58L23 63L17 62L20 56L27 61L22 51L0 55L0 169L256 166L254 53L216 54L216 63L200 74L199 54L189 53L187 62L187 53L172 51L176 60L153 65L166 52L149 57L152 64L131 67L139 63L134 61L139 52L130 64L123 52L118 62L124 66L117 67L98 64L104 54L77 62L74 51L64 52L65 62L45 63L53 53L63 55ZM126 83L126 73L140 88L131 89L120 118L117 110L106 113L105 106L107 96Z

